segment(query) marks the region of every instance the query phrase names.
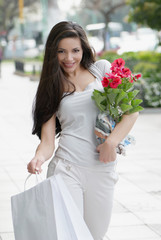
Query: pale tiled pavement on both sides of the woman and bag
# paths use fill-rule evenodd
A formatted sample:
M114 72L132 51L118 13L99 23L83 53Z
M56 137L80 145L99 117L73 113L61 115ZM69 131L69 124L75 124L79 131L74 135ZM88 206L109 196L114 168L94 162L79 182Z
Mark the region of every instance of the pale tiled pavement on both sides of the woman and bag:
M27 163L39 143L31 134L38 82L2 65L0 78L0 240L14 240L10 198L24 190ZM161 240L161 109L140 113L136 144L119 157L113 215L106 240ZM48 162L44 164L46 175ZM35 183L32 176L28 186Z

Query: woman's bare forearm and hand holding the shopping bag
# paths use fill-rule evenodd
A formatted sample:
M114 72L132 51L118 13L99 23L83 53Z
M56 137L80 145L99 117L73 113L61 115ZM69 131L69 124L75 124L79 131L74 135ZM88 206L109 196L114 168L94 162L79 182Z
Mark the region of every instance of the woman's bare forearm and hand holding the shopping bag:
M41 142L36 149L34 158L27 165L28 172L35 174L35 171L41 172L41 165L52 157L55 149L55 119L53 115L41 130Z

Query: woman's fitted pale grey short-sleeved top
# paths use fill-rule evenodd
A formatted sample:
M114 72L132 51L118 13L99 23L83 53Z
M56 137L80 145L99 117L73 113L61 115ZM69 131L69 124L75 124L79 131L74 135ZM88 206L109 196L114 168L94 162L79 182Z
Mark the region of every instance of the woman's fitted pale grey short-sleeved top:
M89 71L95 76L95 80L83 91L64 97L57 111L62 132L55 156L81 166L103 164L99 161L94 134L99 110L91 96L94 89L103 90L101 80L105 73L110 71L110 63L99 60L90 67Z

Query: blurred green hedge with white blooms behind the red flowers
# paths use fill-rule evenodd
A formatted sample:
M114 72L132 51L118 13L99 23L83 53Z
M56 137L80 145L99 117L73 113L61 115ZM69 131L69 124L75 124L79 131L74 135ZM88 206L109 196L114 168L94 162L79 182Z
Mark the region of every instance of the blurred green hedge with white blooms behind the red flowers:
M143 100L143 107L161 107L161 53L153 51L127 52L118 55L116 52L104 52L100 58L113 62L117 58L125 60L126 67L133 73L141 73L142 79L135 84L139 89L138 98Z

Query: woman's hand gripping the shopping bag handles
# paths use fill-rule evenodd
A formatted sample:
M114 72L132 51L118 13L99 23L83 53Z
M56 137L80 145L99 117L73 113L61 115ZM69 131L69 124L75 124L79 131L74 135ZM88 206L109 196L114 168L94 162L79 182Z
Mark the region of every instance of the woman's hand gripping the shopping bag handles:
M45 162L45 159L43 157L37 157L35 156L27 165L27 169L29 173L35 174L41 173L41 165Z

